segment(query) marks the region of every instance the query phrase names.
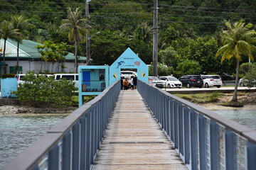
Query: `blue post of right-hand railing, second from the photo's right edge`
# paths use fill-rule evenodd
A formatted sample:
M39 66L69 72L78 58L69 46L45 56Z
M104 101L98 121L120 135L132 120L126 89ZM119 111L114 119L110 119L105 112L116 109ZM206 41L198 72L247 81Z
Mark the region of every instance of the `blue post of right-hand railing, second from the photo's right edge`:
M225 131L225 162L226 169L236 169L235 157L235 134L231 130Z

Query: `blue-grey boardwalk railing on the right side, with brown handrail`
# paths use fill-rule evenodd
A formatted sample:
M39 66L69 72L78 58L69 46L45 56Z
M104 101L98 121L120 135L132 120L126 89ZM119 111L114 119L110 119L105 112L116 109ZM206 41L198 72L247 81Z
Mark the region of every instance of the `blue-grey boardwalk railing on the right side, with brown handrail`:
M255 169L256 131L138 81L138 91L188 169Z

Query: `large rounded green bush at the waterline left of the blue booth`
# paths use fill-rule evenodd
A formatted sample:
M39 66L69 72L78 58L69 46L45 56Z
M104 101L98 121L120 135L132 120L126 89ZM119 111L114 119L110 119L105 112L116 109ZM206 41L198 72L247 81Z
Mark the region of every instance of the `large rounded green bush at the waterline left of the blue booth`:
M14 94L18 100L26 106L33 107L68 107L72 105L73 91L76 91L75 83L54 77L36 75L29 72L23 78L24 84L19 84Z

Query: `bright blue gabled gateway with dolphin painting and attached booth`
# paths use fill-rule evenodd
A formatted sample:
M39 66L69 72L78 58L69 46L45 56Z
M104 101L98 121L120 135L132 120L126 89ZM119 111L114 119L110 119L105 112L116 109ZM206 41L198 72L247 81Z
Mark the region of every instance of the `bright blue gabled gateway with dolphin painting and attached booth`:
M79 66L79 107L82 106L83 96L98 95L121 79L122 69L136 69L137 79L149 81L149 67L130 48L127 48L110 67Z

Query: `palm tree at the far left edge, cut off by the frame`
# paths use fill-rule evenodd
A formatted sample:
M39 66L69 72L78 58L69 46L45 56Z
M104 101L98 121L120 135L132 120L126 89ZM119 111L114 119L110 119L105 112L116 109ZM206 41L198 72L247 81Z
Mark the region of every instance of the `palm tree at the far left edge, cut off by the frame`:
M20 35L20 33L18 33L18 29L14 29L11 22L4 20L1 22L0 35L1 35L1 38L4 39L3 57L4 57L4 74L6 74L6 61L5 61L6 40L8 38L17 38Z

